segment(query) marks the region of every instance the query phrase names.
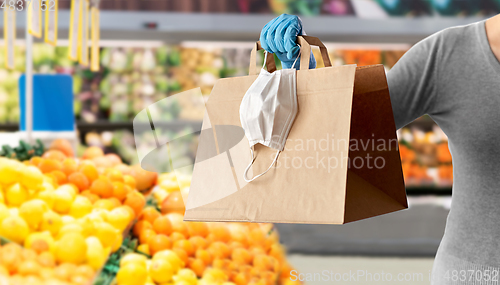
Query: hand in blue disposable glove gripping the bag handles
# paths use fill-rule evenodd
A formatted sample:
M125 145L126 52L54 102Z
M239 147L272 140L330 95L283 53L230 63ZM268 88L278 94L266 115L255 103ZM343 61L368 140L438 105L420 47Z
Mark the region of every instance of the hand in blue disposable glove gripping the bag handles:
M296 43L297 36L305 34L299 17L282 14L264 26L260 33L260 44L263 49L278 56L283 68L292 68L300 51L300 46ZM295 63L295 68L300 69L300 58ZM316 68L312 51L309 68Z

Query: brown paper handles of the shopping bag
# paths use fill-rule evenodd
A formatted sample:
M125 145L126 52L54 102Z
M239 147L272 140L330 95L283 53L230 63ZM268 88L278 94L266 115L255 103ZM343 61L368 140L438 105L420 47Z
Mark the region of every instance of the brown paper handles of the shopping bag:
M330 67L332 66L332 62L330 60L330 56L328 55L328 50L326 49L326 46L321 42L320 39L316 37L311 37L311 36L298 36L297 37L297 43L301 47L301 54L310 54L311 53L311 45L313 46L318 46L320 51L321 51L321 56L323 57L323 63L325 67ZM250 68L248 69L248 74L249 75L257 75L258 70L257 70L257 51L261 50L262 46L260 45L260 42L256 42L252 52L250 53ZM303 56L300 59L300 66L309 66L309 56ZM267 70L269 72L274 72L276 70L276 63L274 62L274 56L268 56L267 61Z

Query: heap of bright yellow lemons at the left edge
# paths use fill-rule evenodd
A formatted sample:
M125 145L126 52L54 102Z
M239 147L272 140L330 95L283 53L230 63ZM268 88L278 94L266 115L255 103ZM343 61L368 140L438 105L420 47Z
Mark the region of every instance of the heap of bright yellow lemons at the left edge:
M121 246L134 219L134 210L126 205L100 207L71 183L59 185L28 162L0 158L0 236L50 255L55 265L99 270ZM7 271L15 276L18 270Z

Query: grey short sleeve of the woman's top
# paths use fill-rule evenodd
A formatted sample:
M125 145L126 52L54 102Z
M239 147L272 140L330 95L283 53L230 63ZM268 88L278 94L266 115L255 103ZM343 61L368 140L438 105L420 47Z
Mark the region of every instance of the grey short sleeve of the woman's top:
M441 37L442 32L438 32L414 45L387 74L397 129L433 110Z

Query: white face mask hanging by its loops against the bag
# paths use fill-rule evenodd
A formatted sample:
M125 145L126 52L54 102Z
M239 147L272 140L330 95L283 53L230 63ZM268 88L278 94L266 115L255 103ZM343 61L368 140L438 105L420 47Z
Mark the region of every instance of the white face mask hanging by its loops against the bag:
M266 60L267 52L264 65ZM292 69L276 70L273 73L269 73L263 67L241 101L240 121L250 143L252 156L252 161L243 174L246 182L251 182L268 172L285 147L288 132L298 111L295 62ZM266 171L248 179L248 170L255 160L253 147L257 143L276 149L277 152Z

